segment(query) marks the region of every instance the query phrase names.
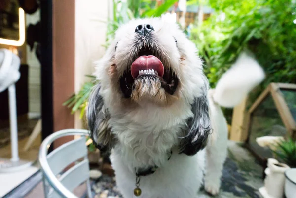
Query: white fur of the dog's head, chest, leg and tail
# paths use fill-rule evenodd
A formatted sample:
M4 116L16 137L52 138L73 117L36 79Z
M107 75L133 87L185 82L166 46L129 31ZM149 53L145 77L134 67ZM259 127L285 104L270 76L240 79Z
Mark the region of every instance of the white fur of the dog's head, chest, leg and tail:
M180 80L176 91L178 100L171 105L158 106L147 102L137 104L136 108L127 107L122 102L122 94L118 90L116 81L110 78L111 65L116 64L119 76L130 66L130 57L135 53L132 48L135 28L139 24L151 24L154 27L157 46L153 47L162 50ZM232 95L234 90L240 98L246 96L248 91L262 80L262 76L259 75L255 80L243 81L243 84L238 83L244 90L230 89L226 96L225 93L220 94L220 90L225 89L223 85L219 85L219 90L207 91L208 81L203 74L202 61L196 54L195 45L186 38L176 24L167 23L161 18L152 18L132 20L120 27L106 55L98 61L95 75L101 87L98 93L94 94L100 94L102 97L104 103L102 116L105 118L108 110L109 119L104 124L91 123L109 128L110 133L117 139L111 152L111 163L115 170L117 185L124 198L134 197L135 168L153 165L159 167L156 172L140 178L142 195L139 198L194 198L203 177L206 191L214 195L219 192L222 167L227 154L227 124L218 103L224 101L223 99L229 94ZM250 58L244 57L246 60ZM246 60L239 59L240 62L236 65L246 66L244 64ZM253 62L246 62L249 63L254 65ZM236 75L233 73L232 75ZM224 81L227 80L229 75L228 78L224 78ZM240 82L240 79L234 81ZM217 100L213 99L215 93ZM209 135L205 149L193 156L179 154L180 142L186 135L184 131L188 130L187 120L194 117L191 105L195 98L203 95L208 99L212 134ZM90 100L89 105L94 101L95 99ZM238 102L239 99L234 104L228 101L226 105L229 107ZM97 107L94 109L97 111ZM97 116L98 113L94 115ZM89 117L89 119L94 118ZM94 141L99 142L100 135L96 134L97 131L93 133L95 133ZM199 134L201 135L203 134ZM168 160L170 150L173 154Z

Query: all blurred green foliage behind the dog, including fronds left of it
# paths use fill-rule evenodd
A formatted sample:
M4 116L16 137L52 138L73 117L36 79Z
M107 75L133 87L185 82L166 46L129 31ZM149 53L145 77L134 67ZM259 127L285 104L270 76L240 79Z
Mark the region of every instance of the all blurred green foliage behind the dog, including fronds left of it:
M159 5L155 0L113 0L104 46L108 47L121 24L161 16L177 1ZM266 73L266 79L250 94L250 104L270 82L296 83L296 0L187 0L187 5L198 5L197 11L204 6L213 10L203 21L196 15L194 23L184 29L204 60L211 87L244 50L255 56ZM72 113L81 110L81 118L94 79L64 103ZM231 123L232 109L223 111Z

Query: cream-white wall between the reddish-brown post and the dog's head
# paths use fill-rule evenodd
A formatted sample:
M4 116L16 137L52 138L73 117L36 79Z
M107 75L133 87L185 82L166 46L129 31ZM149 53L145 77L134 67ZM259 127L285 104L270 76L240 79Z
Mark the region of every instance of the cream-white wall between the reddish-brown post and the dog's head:
M75 92L90 80L85 75L94 72L94 61L100 59L105 48L107 19L111 0L75 0ZM75 128L81 128L79 113L75 115Z

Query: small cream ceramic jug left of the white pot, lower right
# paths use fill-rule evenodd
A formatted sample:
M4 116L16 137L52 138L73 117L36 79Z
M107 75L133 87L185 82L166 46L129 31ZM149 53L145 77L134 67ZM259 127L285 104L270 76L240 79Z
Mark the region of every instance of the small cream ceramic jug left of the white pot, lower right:
M265 169L266 178L264 187L267 194L272 198L283 198L285 185L285 171L290 169L286 164L278 162L276 159L267 160Z

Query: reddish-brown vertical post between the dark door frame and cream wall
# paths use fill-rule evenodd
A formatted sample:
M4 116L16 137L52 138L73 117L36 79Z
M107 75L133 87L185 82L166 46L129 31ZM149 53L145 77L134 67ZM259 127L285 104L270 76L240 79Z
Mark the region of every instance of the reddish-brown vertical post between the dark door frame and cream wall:
M74 115L63 103L74 93L75 0L53 0L52 6L53 131L56 132L74 128ZM59 138L54 148L73 139Z

